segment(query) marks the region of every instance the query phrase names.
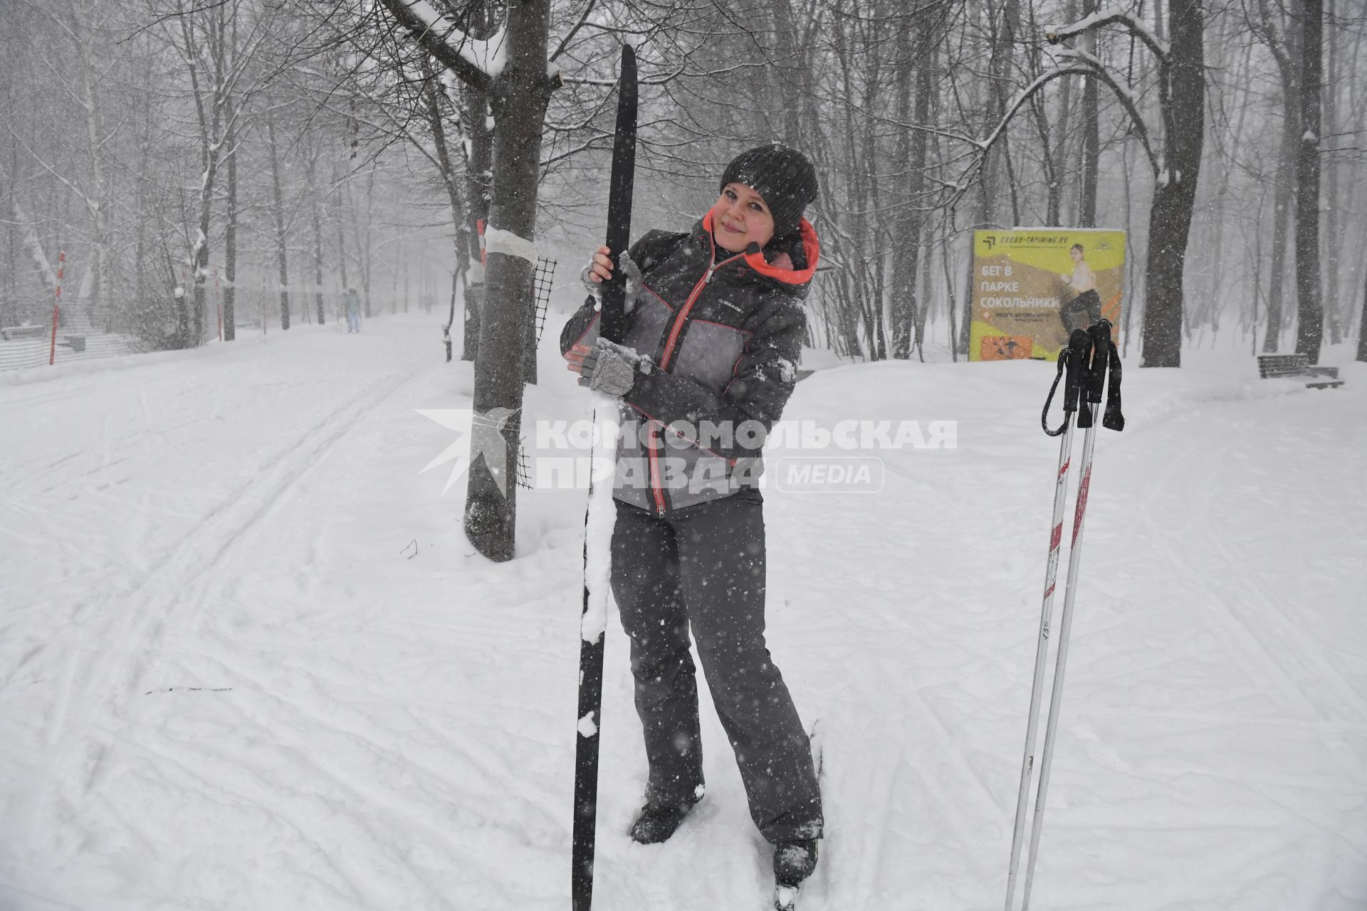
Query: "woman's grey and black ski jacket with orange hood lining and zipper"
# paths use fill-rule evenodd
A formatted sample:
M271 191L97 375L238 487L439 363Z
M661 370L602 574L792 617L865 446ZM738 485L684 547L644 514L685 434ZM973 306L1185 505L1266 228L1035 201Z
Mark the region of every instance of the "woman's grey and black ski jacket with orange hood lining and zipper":
M797 235L718 258L708 213L692 231L651 231L630 249L622 343L651 363L622 396L614 496L664 515L741 488L797 382L807 296L820 243ZM597 340L593 300L570 317L560 351Z

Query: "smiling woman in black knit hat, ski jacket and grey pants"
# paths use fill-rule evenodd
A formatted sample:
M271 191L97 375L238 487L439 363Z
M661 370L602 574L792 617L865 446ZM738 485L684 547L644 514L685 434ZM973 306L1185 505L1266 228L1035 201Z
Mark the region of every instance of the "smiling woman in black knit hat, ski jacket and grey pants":
M632 825L664 841L703 798L689 630L779 885L816 867L822 795L808 735L764 645L764 436L797 381L820 244L802 210L816 171L767 145L722 173L690 231L651 231L622 257L623 344L591 299L560 333L580 385L621 396L612 594L632 639L649 779ZM612 275L599 247L586 277ZM591 285L592 288L593 285ZM684 429L686 437L675 434Z

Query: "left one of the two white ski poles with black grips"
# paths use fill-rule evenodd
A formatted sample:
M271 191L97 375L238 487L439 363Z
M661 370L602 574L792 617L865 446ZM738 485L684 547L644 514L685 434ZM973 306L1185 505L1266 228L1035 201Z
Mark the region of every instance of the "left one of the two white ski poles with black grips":
M1025 830L1025 809L1029 802L1029 783L1035 770L1035 736L1039 728L1039 705L1043 697L1044 664L1048 658L1048 624L1054 613L1054 587L1058 578L1058 556L1064 538L1064 501L1068 497L1068 468L1069 456L1073 448L1073 412L1077 411L1077 365L1084 352L1091 346L1091 336L1083 329L1074 329L1068 347L1058 352L1058 373L1054 376L1054 385L1050 387L1048 397L1044 399L1044 411L1040 414L1040 426L1051 437L1062 436L1058 447L1058 471L1054 474L1054 512L1050 519L1048 535L1048 565L1044 570L1044 602L1040 609L1039 641L1035 645L1035 682L1029 692L1029 718L1025 723L1025 751L1021 757L1021 784L1016 795L1016 826L1012 830L1012 860L1006 874L1006 911L1012 908L1016 896L1016 875L1020 867L1021 833ZM1058 382L1064 380L1064 423L1055 430L1048 429L1048 407L1058 391Z

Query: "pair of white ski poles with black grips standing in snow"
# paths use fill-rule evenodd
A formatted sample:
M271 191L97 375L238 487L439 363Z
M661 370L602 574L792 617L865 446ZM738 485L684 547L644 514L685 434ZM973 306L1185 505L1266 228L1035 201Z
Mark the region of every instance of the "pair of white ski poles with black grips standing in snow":
M1124 430L1125 418L1120 400L1120 354L1111 340L1111 325L1099 321L1091 329L1073 329L1068 347L1058 355L1058 373L1054 385L1044 400L1040 425L1051 437L1062 437L1058 449L1058 471L1054 475L1054 514L1050 522L1048 565L1044 571L1044 605L1040 612L1039 642L1035 647L1035 683L1029 695L1029 721L1025 727L1025 753L1021 758L1021 784L1016 798L1016 828L1012 832L1012 860L1006 875L1006 911L1012 911L1016 897L1016 880L1020 873L1020 855L1025 830L1029 784L1035 772L1035 736L1039 728L1040 701L1044 695L1044 665L1048 660L1050 621L1054 613L1054 589L1058 578L1058 557L1064 538L1064 501L1068 494L1068 470L1072 464L1073 414L1083 434L1083 474L1077 485L1077 501L1073 507L1073 539L1068 552L1068 582L1064 587L1064 615L1058 628L1058 656L1054 662L1054 687L1048 699L1048 723L1044 728L1043 755L1039 762L1039 787L1035 795L1035 815L1031 822L1029 854L1025 863L1025 892L1021 911L1029 908L1031 886L1035 881L1035 860L1039 856L1039 837L1044 825L1044 800L1048 794L1048 772L1054 761L1054 735L1058 732L1058 714L1064 701L1064 671L1068 667L1068 636L1073 626L1073 602L1077 594L1077 568L1083 549L1083 519L1087 514L1087 496L1092 481L1092 447L1096 443L1096 417L1102 407L1102 391L1110 387L1106 396L1106 410L1102 426L1107 430ZM1048 408L1064 381L1064 423L1050 430ZM1079 404L1081 408L1079 410Z

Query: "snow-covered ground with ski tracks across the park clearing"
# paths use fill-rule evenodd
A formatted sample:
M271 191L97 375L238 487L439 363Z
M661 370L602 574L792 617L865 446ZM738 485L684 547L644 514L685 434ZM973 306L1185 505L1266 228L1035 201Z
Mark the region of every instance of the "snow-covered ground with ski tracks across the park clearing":
M0 908L569 907L584 492L524 492L518 559L473 553L463 485L420 473L452 434L416 410L472 388L432 322L0 385ZM556 329L530 421L586 414ZM804 911L1001 907L1051 373L837 366L789 406L958 426L876 453L879 493L766 493L770 643L826 736ZM1344 373L1126 370L1032 907L1367 907L1367 370ZM707 697L707 800L670 843L627 840L615 620L607 650L596 907L764 907Z

